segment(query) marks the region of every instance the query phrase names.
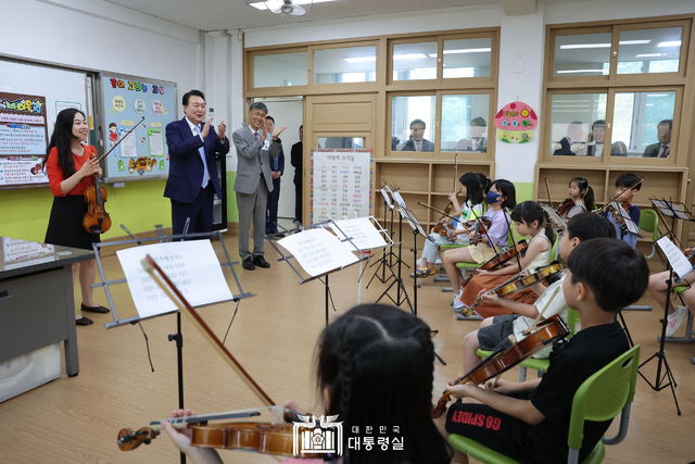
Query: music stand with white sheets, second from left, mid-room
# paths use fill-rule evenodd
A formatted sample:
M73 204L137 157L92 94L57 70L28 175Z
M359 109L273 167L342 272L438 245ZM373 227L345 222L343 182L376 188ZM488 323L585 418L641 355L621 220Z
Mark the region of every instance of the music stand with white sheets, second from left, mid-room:
M330 228L334 228L348 237L341 228L336 225L333 220L329 220L314 223L311 226L298 226L289 229L289 237L278 240L277 244L288 250L290 254L285 254L282 250L277 247L275 240L270 240L270 236L266 236L266 238L280 255L278 261L285 261L294 274L298 275L300 278L299 285L304 285L313 280L319 280L324 284L326 287L326 325L328 326L329 301L332 304L328 276L345 267L366 261L369 256L359 250L351 237L341 240L336 235L326 230L326 225L330 225ZM350 243L348 247L352 253L352 259L345 255L345 247L343 243ZM298 254L293 254L291 250L294 250ZM357 256L355 256L354 253L357 253ZM308 277L304 277L290 260L294 260L296 264L308 274ZM324 277L325 280L321 280L321 277ZM333 310L334 309L333 305Z

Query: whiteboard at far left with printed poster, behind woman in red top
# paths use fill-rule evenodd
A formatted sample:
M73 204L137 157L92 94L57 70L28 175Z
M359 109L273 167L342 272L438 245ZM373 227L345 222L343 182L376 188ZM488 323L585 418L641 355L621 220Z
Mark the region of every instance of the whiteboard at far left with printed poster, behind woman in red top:
M87 111L84 72L0 60L0 189L45 187L41 170L56 114Z

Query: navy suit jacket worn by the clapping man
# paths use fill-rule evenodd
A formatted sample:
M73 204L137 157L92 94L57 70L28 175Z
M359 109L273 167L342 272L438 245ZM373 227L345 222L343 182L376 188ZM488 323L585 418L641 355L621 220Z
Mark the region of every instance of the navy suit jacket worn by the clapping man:
M205 147L205 162L207 172L215 188L217 198L223 198L219 177L217 177L217 162L215 152L227 154L229 139L219 141L215 128L211 125L205 140L194 136L186 116L166 125L166 143L169 149L169 177L166 179L164 197L181 203L192 203L200 193L203 183L203 161L198 149Z

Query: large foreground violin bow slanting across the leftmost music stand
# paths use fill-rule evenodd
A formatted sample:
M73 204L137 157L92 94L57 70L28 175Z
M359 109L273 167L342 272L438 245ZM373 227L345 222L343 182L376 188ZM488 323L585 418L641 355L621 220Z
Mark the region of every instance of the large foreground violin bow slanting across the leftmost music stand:
M178 310L186 314L189 319L193 323L195 328L200 330L200 333L207 339L207 341L213 346L213 348L219 353L220 356L233 368L238 374L241 375L241 378L251 387L251 389L258 396L260 399L268 403L270 406L275 406L276 403L266 394L265 391L255 383L253 378L249 375L249 373L241 366L241 364L237 361L237 359L227 350L227 347L223 344L222 341L217 338L217 336L210 329L207 324L203 321L203 318L198 314L198 311L190 305L186 298L181 294L181 292L176 288L176 286L169 280L164 271L154 262L152 256L149 254L142 260L142 267L150 274L152 279L162 288L162 290L166 293L166 296L176 304ZM159 275L157 275L159 274ZM164 281L162 281L164 280Z

